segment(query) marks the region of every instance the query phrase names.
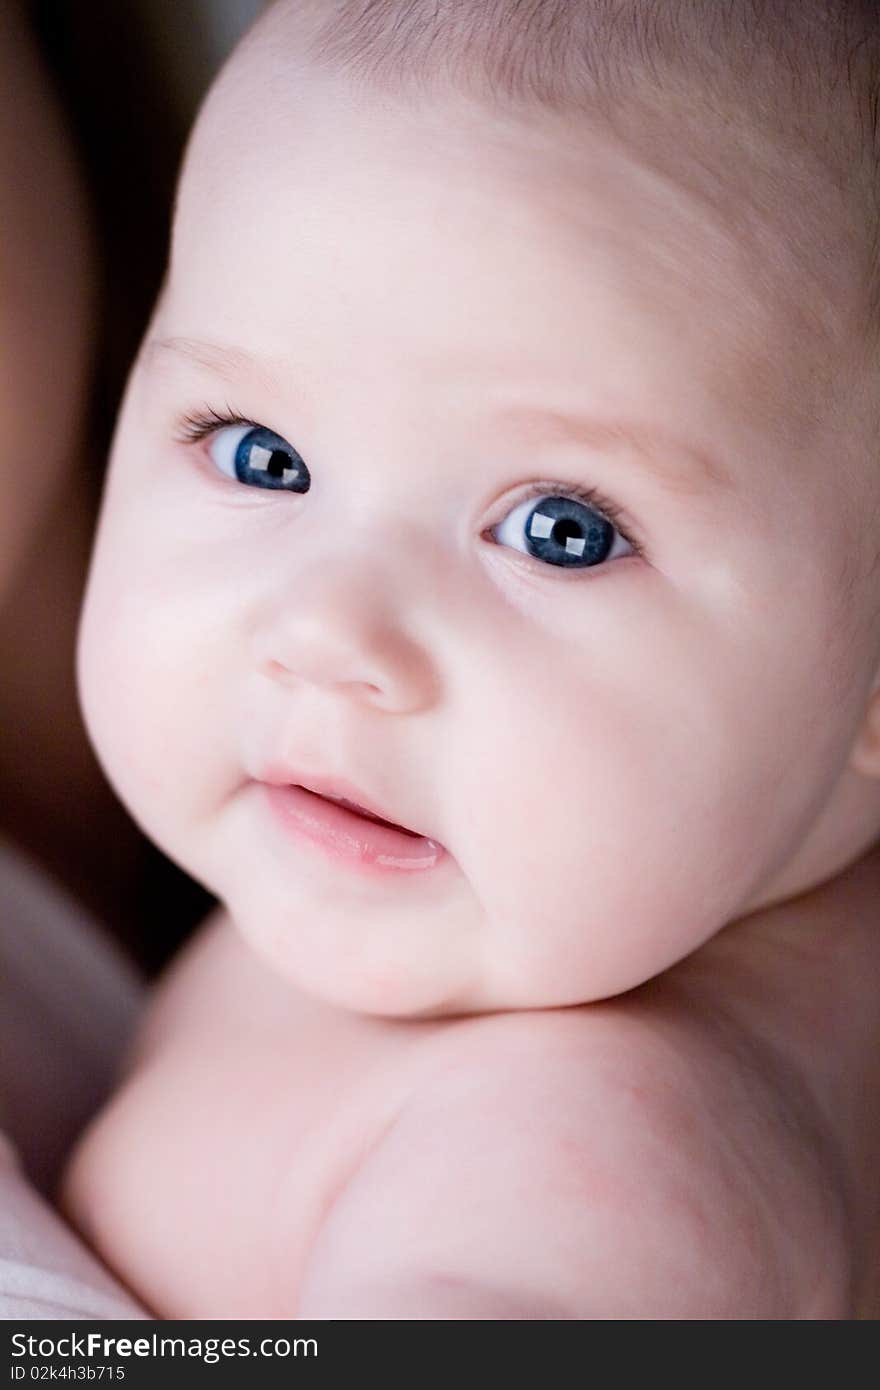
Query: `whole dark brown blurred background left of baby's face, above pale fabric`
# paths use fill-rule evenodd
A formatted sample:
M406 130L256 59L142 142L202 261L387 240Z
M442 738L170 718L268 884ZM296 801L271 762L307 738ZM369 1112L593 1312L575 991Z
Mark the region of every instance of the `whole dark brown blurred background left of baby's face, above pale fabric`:
M197 106L264 0L0 0L0 838L153 976L211 906L107 787L74 638Z

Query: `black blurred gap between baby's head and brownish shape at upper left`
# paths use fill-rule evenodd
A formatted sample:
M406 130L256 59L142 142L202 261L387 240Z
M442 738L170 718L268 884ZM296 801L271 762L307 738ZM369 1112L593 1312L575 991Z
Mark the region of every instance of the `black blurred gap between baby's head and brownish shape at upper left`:
M25 7L96 224L97 402L107 425L158 289L186 135L211 78L264 0L26 0Z

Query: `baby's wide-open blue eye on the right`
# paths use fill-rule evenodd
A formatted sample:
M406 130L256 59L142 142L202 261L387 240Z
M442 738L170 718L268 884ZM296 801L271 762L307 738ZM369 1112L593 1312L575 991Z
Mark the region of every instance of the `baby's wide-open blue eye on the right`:
M491 534L545 564L578 570L588 570L608 560L614 549L614 537L630 545L627 537L592 503L546 492L537 496L538 502L532 492L525 502L513 507ZM519 543L520 537L524 543ZM638 553L633 546L631 552Z

